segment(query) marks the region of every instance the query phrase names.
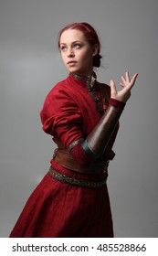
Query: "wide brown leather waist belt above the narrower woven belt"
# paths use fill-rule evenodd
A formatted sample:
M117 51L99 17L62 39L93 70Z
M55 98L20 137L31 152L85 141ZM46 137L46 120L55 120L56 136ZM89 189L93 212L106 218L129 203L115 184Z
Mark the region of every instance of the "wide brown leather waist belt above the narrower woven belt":
M108 159L100 159L90 163L89 165L80 165L65 148L56 149L53 155L53 160L57 162L58 165L61 165L69 170L93 175L108 172L108 165L110 162Z

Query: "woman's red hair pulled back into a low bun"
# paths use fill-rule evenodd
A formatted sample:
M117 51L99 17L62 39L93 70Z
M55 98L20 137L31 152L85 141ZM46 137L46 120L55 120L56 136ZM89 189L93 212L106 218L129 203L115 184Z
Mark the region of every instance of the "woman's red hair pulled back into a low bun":
M91 47L93 47L96 44L99 46L98 53L93 57L93 66L100 67L100 59L101 59L100 39L99 39L95 29L93 27L91 27L91 25L89 23L86 23L86 22L71 23L71 24L68 24L66 27L63 27L58 33L58 48L60 46L60 37L61 37L62 33L65 30L68 30L69 28L70 29L78 29L79 31L81 31L84 34L84 37L86 38L86 40L90 43Z

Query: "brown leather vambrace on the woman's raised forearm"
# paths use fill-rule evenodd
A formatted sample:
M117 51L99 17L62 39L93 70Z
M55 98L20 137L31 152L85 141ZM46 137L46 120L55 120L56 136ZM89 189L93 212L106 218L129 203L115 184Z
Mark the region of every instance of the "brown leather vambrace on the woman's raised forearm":
M103 155L122 111L122 107L109 105L100 122L89 133L82 147L90 158L96 160Z

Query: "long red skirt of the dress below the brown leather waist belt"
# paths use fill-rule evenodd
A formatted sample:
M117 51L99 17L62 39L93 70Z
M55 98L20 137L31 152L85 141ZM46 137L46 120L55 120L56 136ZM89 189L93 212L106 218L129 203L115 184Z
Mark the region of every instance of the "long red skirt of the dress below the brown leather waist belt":
M97 180L60 168L79 179ZM46 175L26 202L10 238L113 237L108 189L71 186Z

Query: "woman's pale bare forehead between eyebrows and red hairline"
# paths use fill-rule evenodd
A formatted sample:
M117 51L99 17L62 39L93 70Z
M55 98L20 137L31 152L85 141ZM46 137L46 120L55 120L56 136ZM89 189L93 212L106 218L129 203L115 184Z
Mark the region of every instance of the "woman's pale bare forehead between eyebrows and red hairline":
M69 28L60 37L60 44L68 44L75 41L86 41L83 32L78 29Z

